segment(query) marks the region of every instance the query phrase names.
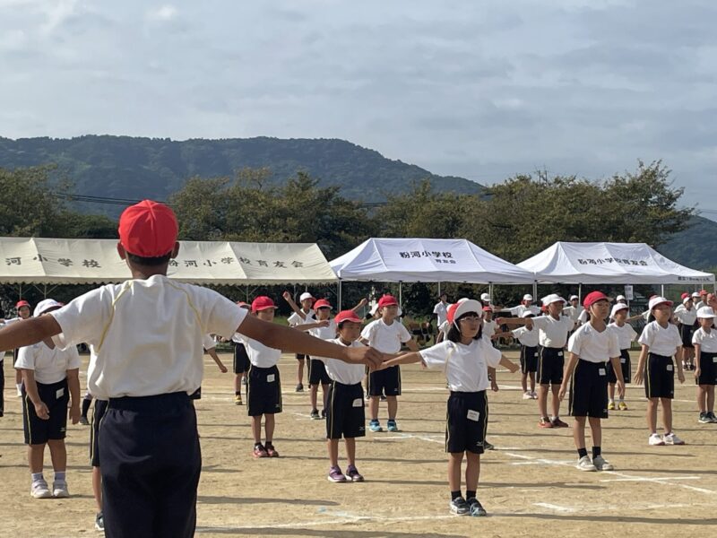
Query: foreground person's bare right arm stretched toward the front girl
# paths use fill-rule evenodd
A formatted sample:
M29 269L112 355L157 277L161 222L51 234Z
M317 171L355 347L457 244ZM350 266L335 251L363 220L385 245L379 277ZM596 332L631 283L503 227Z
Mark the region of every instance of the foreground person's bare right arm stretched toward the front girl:
M291 353L327 357L350 364L366 364L372 368L380 366L384 360L384 354L373 348L337 345L284 325L262 321L255 316L245 317L237 332L268 347Z

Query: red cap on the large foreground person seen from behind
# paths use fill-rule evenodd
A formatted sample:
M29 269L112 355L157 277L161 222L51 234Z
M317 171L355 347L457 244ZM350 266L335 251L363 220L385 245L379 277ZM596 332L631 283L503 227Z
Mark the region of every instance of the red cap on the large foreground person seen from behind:
M177 242L177 217L164 204L143 200L119 217L119 242L130 254L165 256Z

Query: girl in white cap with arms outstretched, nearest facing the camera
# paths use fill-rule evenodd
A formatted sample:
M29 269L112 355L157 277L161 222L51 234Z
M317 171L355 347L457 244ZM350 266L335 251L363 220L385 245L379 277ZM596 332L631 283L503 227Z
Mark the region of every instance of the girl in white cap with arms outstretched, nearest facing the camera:
M451 490L451 511L459 516L486 516L477 497L480 455L488 428L488 367L498 364L511 372L518 367L505 359L481 336L482 306L477 300L451 305L446 339L427 350L410 352L384 363L393 368L399 364L422 361L428 368L445 372L451 395L448 398L448 422L445 428L445 451L448 456L448 484ZM465 470L466 498L461 490L461 467Z

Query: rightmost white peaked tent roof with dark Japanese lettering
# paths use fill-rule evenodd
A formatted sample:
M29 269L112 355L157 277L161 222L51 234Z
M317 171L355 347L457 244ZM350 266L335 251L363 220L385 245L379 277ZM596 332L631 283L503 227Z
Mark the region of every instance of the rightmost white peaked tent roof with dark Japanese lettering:
M539 282L566 284L673 284L714 282L712 273L679 265L645 243L558 241L518 264Z

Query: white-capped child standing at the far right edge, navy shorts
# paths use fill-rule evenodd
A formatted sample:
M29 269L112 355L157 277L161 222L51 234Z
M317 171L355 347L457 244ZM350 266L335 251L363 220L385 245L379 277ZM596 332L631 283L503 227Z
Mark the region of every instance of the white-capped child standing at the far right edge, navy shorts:
M697 405L700 408L698 421L701 424L717 422L714 416L714 384L717 382L717 331L714 329L714 310L702 307L697 310L700 328L692 336L695 344L695 380L697 383Z

